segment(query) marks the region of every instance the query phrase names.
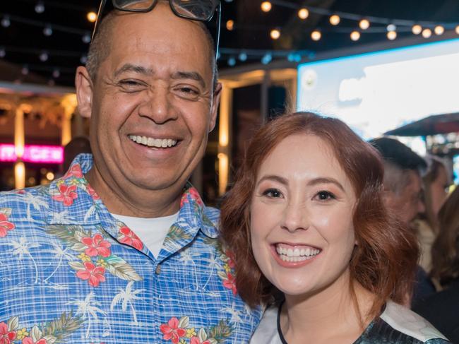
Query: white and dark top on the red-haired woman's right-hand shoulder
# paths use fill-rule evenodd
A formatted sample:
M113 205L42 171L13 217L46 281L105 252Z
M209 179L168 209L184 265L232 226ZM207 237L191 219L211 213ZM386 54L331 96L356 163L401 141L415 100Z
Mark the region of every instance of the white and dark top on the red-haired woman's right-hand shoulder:
M362 337L357 343L450 343L429 321L392 301Z

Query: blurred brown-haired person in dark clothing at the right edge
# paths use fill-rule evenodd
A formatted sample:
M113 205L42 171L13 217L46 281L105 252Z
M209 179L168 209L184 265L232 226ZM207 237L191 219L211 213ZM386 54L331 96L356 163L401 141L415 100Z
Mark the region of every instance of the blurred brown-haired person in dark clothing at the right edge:
M432 246L432 278L443 290L413 307L453 343L459 343L459 188L439 211L439 235Z

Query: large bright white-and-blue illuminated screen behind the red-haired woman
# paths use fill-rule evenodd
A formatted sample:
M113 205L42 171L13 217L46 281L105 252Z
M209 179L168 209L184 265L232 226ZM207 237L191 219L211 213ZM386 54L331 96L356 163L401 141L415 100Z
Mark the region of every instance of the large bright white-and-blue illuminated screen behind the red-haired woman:
M301 64L298 110L374 138L431 114L459 112L459 40Z

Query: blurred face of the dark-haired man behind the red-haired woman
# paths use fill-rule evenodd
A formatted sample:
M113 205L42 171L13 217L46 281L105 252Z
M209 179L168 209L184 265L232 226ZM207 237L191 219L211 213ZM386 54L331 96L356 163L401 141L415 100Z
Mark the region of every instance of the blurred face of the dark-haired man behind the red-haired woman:
M421 177L415 171L408 171L407 173L408 182L405 189L398 194L388 191L384 198L388 209L404 223L410 223L418 213L424 211L424 203L421 200Z

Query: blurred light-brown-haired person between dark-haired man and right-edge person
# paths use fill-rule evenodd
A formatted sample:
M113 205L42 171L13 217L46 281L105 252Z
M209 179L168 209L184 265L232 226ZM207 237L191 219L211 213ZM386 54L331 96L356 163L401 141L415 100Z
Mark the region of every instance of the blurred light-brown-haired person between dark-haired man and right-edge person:
M431 248L439 232L439 210L448 197L448 188L451 185L451 174L441 158L427 155L426 174L422 177L424 212L414 221L413 227L417 232L421 245L419 265L424 271L431 271Z

